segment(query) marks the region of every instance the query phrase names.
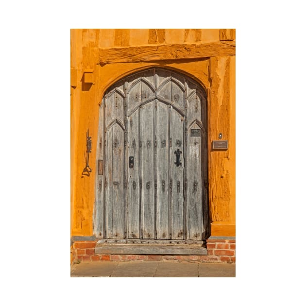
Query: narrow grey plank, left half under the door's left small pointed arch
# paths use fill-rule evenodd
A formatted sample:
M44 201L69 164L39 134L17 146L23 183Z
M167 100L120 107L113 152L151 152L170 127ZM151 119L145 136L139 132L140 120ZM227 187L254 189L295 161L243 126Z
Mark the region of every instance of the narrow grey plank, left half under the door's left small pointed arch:
M107 105L107 104L106 104ZM113 127L106 132L105 147L105 238L112 237L113 220Z

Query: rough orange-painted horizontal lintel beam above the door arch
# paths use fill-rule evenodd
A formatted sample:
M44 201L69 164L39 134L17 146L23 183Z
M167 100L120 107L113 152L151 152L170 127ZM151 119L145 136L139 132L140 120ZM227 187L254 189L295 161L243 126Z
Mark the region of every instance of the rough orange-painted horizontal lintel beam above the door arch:
M159 45L99 49L99 63L150 62L158 60L199 59L235 55L235 43L216 42L192 45Z

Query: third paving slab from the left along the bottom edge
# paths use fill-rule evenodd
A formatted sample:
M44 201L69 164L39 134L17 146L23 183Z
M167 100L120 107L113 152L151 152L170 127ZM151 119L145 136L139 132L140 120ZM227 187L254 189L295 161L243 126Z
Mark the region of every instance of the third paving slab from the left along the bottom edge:
M160 262L155 277L198 277L198 263Z

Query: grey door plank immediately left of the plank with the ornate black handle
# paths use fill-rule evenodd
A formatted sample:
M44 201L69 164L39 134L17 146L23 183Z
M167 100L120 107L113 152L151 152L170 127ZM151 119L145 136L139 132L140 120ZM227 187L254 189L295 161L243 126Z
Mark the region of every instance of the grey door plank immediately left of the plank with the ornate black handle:
M169 239L169 134L168 105L156 101L156 231L157 239Z

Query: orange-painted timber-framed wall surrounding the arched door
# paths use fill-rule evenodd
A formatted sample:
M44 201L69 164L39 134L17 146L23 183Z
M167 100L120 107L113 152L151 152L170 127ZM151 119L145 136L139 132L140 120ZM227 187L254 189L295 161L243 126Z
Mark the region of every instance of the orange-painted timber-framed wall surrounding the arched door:
M176 69L196 79L208 96L208 184L212 236L235 236L235 53L217 52L215 45L234 46L233 29L72 29L71 30L71 235L93 234L96 146L99 104L106 89L125 75L159 66ZM169 60L102 63L99 53L129 47L194 46L211 44L214 56ZM210 48L210 47L207 48ZM217 46L220 48L220 46ZM180 48L180 47L177 47ZM116 49L116 50L117 50ZM132 48L133 49L133 48ZM128 51L126 51L128 50ZM169 49L169 54L172 49ZM219 50L219 49L218 49ZM158 58L158 51L155 54ZM156 57L155 56L155 57ZM165 56L165 55L163 55ZM170 55L171 56L171 55ZM175 57L175 54L173 55ZM163 58L163 57L161 57ZM86 132L92 137L90 176L85 168ZM229 141L229 150L211 150L212 140Z

